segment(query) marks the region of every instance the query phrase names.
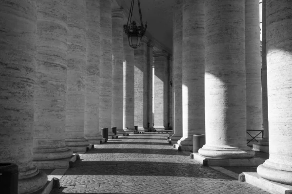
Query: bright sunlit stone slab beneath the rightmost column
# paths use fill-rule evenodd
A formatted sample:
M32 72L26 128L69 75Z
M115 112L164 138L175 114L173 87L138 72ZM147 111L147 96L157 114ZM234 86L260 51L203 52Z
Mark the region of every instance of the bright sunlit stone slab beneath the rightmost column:
M256 172L243 172L239 175L240 182L246 182L272 194L292 194L292 186L261 178Z

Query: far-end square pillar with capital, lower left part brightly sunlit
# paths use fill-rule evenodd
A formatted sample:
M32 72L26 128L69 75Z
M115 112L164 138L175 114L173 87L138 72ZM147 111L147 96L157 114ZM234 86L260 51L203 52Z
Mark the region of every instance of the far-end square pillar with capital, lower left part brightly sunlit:
M154 58L154 128L168 129L168 88L166 52L155 52Z

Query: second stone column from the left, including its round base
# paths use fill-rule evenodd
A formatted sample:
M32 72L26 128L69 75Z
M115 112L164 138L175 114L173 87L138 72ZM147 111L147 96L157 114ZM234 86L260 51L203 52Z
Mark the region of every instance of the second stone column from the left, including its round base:
M37 1L37 66L33 160L38 168L68 168L65 145L67 1Z

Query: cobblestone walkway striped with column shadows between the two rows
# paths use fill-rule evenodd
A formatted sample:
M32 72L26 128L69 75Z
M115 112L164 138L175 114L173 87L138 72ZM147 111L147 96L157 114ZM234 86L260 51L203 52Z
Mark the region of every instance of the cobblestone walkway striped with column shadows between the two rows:
M167 134L133 134L95 145L51 194L267 194L201 166L167 143Z

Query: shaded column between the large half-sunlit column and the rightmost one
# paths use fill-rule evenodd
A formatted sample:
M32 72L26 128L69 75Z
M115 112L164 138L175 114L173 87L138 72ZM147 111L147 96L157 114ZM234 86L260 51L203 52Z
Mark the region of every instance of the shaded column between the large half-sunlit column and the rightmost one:
M262 129L259 3L245 0L246 129ZM255 136L258 131L248 131ZM248 139L251 137L248 135Z

